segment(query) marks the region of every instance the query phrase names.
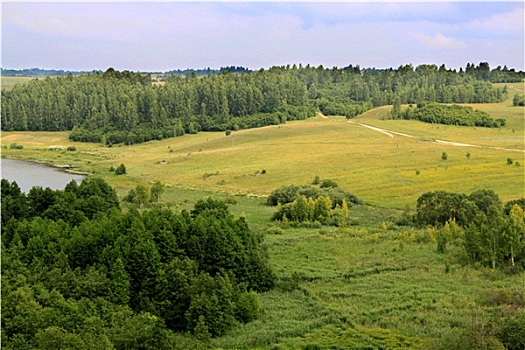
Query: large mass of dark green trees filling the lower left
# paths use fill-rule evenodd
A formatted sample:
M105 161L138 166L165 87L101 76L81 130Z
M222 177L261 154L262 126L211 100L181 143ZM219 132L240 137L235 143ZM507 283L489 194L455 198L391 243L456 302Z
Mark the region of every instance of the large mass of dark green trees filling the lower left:
M274 285L262 238L224 202L124 213L97 178L1 191L6 349L195 348L256 319Z

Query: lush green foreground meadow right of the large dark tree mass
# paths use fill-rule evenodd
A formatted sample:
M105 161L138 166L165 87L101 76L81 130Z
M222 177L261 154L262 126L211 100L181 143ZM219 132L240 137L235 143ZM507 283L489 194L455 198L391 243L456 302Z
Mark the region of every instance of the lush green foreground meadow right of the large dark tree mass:
M505 310L487 301L494 291L523 293L523 274L463 266L438 254L433 236L383 225L267 235L277 276L296 276L297 289L263 294L262 317L212 346L426 349L473 318L489 322Z

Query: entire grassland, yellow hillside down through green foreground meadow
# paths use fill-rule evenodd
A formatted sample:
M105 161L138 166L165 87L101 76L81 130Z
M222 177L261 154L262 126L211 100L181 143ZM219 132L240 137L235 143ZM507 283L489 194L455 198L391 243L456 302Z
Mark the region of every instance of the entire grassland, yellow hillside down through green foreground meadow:
M278 286L261 295L257 321L213 339L212 348L432 349L473 325L497 322L509 308L502 296L525 298L525 275L464 265L459 252L438 254L433 229L400 228L393 218L431 190L491 188L503 201L524 196L524 109L509 101L473 105L505 118L501 129L386 120L389 107L382 107L352 123L317 117L111 148L71 142L65 132L5 132L2 156L72 165L102 176L121 197L137 183L161 180L162 200L174 209L207 196L233 200L233 214L264 234ZM51 151L52 145L76 151ZM108 171L120 163L127 175ZM265 195L316 175L372 205L350 208L355 226L275 230Z

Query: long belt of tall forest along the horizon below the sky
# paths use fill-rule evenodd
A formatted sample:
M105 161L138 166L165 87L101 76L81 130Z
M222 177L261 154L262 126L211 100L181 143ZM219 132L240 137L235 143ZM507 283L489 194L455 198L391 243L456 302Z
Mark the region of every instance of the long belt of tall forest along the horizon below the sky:
M317 111L353 118L394 102L501 102L508 91L491 81L522 76L506 67L491 70L483 62L459 72L444 65L386 70L288 65L257 72L230 67L203 77L172 75L154 85L149 75L110 68L2 91L1 122L4 131L70 130L74 141L134 144L281 124Z

